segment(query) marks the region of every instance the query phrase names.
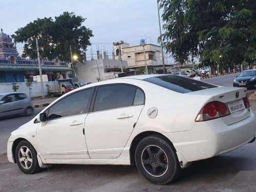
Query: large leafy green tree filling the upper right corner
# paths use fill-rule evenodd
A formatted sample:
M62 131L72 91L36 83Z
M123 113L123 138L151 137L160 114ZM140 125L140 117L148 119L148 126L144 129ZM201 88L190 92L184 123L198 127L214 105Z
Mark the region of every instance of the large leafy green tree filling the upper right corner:
M203 65L256 59L254 0L160 0L163 46L176 61L200 56Z

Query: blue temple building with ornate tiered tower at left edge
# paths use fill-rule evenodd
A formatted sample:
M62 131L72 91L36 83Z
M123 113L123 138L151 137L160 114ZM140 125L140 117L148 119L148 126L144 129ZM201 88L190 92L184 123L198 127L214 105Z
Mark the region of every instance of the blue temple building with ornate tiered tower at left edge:
M41 61L42 74L47 75L49 81L56 76L66 78L66 73L72 71L67 67L66 62L59 59ZM24 82L25 76L33 79L39 75L37 59L24 59L18 55L12 38L0 32L0 82Z

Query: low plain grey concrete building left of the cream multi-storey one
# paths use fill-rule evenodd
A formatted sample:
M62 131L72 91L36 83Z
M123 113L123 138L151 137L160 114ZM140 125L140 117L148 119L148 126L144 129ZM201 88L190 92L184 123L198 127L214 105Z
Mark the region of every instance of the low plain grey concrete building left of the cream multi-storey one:
M127 71L127 61L122 61L124 71ZM121 73L121 63L113 59L97 59L78 62L76 74L84 83L97 82L118 77Z

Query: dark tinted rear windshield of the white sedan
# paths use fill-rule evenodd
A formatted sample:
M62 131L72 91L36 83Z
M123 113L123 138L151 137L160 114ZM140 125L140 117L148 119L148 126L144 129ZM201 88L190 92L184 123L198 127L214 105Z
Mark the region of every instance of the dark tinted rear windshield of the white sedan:
M204 89L217 88L217 86L212 84L176 75L163 75L143 80L178 93L189 93Z

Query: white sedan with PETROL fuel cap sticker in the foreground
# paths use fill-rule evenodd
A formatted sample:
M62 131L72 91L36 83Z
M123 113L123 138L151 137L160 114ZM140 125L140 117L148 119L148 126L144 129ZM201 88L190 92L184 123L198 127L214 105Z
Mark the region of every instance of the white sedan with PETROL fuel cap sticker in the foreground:
M33 174L49 164L136 164L167 184L190 162L255 140L245 88L141 75L73 90L11 133L8 160Z

